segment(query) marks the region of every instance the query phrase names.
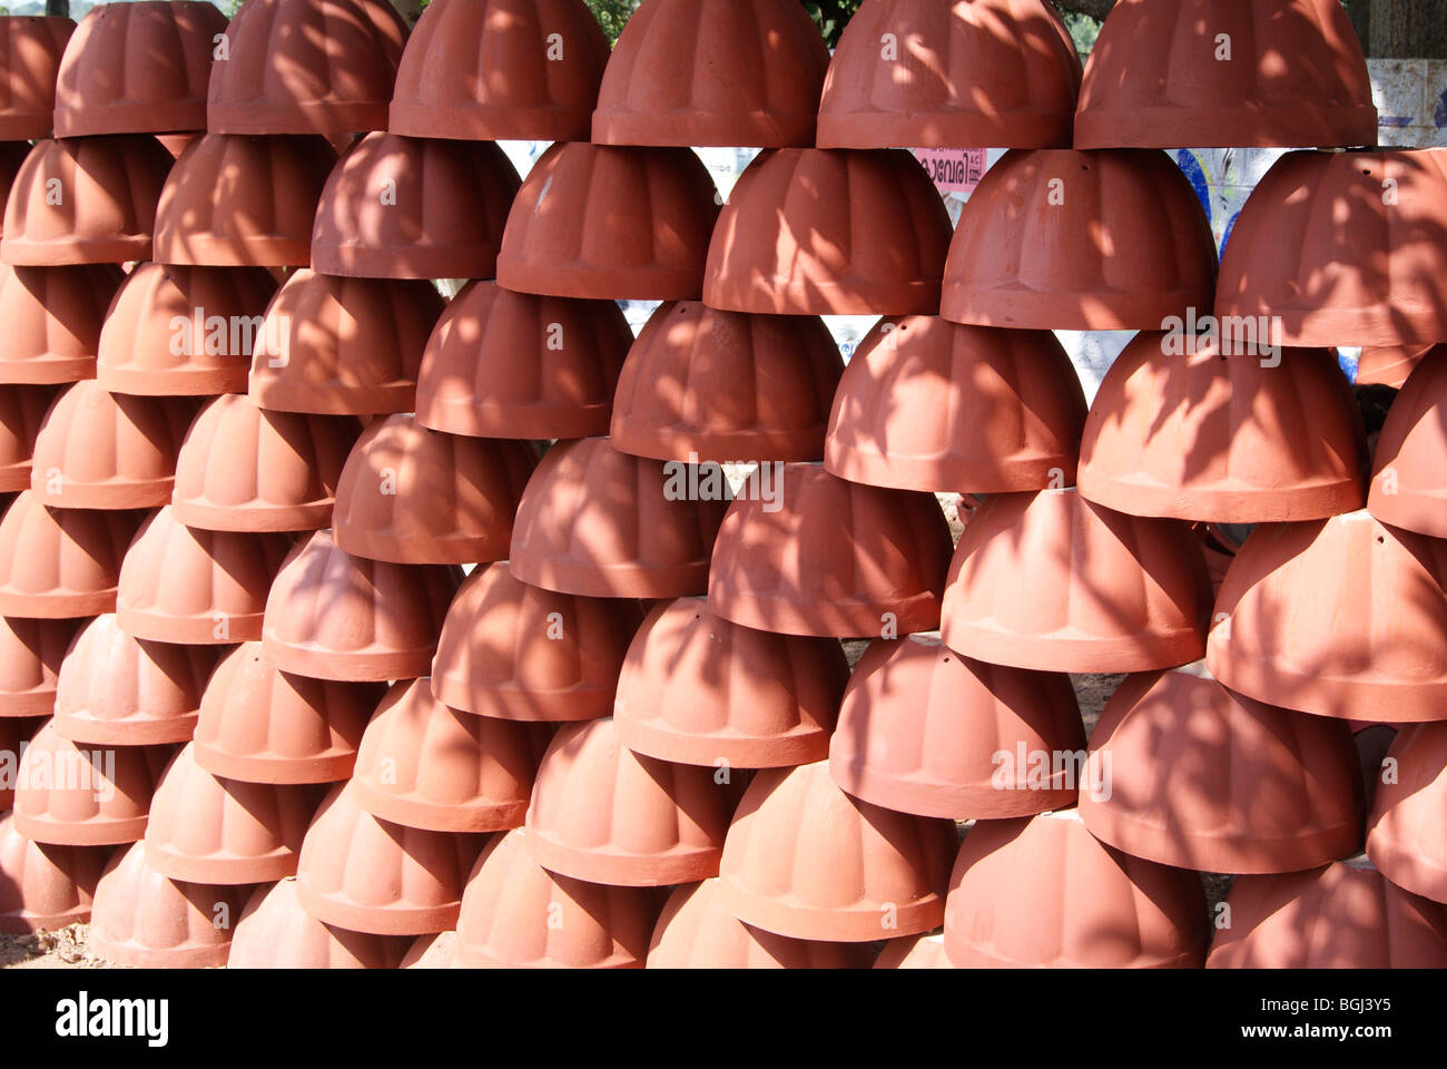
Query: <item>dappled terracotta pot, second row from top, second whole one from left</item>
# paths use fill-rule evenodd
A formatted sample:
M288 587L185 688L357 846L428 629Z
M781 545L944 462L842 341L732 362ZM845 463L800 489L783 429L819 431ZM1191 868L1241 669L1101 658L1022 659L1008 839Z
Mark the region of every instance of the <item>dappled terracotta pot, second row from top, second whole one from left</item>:
M305 267L317 201L336 162L336 151L321 138L216 132L197 138L161 191L155 258L162 264Z

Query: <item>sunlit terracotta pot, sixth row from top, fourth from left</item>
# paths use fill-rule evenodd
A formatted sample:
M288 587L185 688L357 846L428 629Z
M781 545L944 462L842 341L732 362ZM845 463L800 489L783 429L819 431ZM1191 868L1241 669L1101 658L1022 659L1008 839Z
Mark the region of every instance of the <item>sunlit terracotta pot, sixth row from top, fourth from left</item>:
M357 750L357 804L373 817L434 831L522 826L532 778L553 737L547 724L459 713L430 679L396 684Z

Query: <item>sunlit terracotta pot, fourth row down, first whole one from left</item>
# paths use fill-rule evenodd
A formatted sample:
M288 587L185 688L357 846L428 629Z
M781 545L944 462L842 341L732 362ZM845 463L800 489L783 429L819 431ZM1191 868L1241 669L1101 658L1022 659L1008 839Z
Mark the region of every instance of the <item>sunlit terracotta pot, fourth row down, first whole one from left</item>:
M171 501L188 401L109 394L96 380L62 393L41 426L30 492L52 508L155 508Z

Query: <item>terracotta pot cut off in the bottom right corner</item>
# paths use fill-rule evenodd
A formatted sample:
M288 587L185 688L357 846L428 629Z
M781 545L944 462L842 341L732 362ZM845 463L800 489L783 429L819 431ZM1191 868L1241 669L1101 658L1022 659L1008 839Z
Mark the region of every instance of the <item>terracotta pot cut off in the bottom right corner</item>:
M1365 858L1242 876L1208 969L1441 969L1447 910L1389 884Z

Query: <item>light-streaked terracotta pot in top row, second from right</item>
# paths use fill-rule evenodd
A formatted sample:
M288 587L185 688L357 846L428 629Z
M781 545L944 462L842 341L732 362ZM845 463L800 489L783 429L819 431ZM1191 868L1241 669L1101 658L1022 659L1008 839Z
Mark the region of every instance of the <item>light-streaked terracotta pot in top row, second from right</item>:
M829 62L819 148L1064 148L1079 84L1040 0L867 0Z

